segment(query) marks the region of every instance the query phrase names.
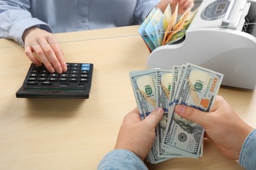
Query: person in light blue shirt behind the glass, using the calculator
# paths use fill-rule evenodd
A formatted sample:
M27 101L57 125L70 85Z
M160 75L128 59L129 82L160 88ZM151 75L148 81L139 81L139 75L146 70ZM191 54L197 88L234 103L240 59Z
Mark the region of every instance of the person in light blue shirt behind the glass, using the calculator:
M66 62L52 33L141 24L154 7L165 10L171 3L174 10L178 1L180 14L194 5L194 0L0 0L0 38L25 45L35 65L43 62L51 73L62 73Z

